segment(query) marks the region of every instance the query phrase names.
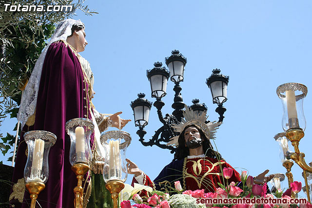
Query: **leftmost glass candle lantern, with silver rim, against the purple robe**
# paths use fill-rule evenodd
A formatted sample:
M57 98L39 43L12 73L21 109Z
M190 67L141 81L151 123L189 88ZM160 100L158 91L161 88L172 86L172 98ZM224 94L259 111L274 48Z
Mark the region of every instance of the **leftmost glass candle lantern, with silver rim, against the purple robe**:
M26 183L45 183L49 178L49 151L57 136L46 131L30 131L24 134L28 157L24 169Z

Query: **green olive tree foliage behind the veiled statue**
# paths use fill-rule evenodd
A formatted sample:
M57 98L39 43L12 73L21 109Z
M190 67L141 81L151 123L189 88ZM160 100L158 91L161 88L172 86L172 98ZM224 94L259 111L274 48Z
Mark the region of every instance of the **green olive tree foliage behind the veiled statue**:
M72 5L72 10L69 11L67 7L65 11L65 7L59 12L12 12L8 9L10 6L5 11L4 4L42 5L43 8L48 5ZM8 115L17 117L22 92L20 89L30 77L56 23L72 18L78 10L86 15L96 13L84 5L84 0L0 0L0 126ZM0 150L5 155L14 145L15 136L0 132L0 138Z

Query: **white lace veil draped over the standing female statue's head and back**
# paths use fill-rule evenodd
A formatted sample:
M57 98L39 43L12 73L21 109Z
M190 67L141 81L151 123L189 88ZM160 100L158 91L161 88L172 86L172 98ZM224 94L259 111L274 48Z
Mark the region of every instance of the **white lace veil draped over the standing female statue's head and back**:
M21 128L23 128L28 118L35 113L42 66L49 46L51 43L59 40L64 40L66 42L67 37L72 34L72 26L75 23L83 24L80 20L74 19L65 19L60 21L54 31L54 34L51 37L51 40L39 56L34 70L29 78L28 84L21 97L20 111L18 114L18 120L21 122Z

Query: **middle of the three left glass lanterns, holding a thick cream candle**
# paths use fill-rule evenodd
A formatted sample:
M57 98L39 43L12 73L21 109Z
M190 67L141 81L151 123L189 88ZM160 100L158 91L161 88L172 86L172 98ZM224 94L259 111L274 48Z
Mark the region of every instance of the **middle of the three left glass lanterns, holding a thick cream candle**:
M90 165L92 160L90 136L94 130L93 122L87 118L74 118L66 122L65 129L71 142L70 164L84 163Z

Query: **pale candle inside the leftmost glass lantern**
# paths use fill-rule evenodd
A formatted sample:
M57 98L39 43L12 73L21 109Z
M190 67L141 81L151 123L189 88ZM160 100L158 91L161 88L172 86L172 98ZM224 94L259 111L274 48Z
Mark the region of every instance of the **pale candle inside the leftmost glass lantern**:
M44 141L42 139L36 139L33 152L33 163L30 173L31 178L39 177L41 175L43 151L44 151Z

